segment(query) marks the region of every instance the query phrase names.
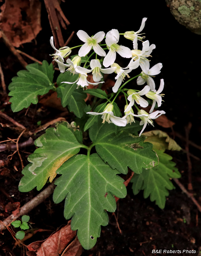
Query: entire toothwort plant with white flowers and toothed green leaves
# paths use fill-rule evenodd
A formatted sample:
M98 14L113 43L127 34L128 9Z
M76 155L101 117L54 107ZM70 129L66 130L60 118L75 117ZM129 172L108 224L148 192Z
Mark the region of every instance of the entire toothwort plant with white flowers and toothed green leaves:
M57 77L58 87L53 83L53 66L45 60L42 65L27 65L27 71L19 71L9 85L14 112L28 108L31 103L36 104L37 96L51 89L57 91L62 106L67 106L76 116L76 123L58 122L56 128L47 129L35 140L37 149L28 158L30 164L22 171L24 176L19 190L27 192L34 187L40 190L59 174L53 201L59 203L65 199L64 217L72 217L71 228L78 230L78 239L86 249L95 245L101 225L108 224L107 211L115 211L114 196L126 196L124 180L118 174L127 174L128 168L135 172L131 181L134 194L143 189L144 197L150 195L151 201L155 200L160 208L165 206L167 189L174 187L170 177L180 176L171 157L164 153L165 149L159 150L156 146L153 151L153 145L144 142L146 137L142 134L147 124L154 126L153 119L165 114L163 110L154 111L156 102L158 107L162 103L164 80L160 80L156 89L153 77L160 73L162 64L150 68L155 44L143 41L145 37L140 33L146 19L142 19L136 32L119 33L112 29L106 35L100 31L90 37L79 30L77 36L83 44L74 47L56 49L51 37L50 44L55 50L52 58L61 72ZM120 35L133 41L130 46L133 49L119 44ZM142 50L138 49L139 41ZM74 48L79 49L78 54L65 62ZM117 54L126 58L127 67L120 67ZM137 68L141 69L140 73L131 76ZM89 73L93 75L93 82L89 82ZM115 74L115 84L112 93L106 94L101 89L104 74L112 73ZM137 85L145 84L144 88L127 89L126 85L134 79L137 79ZM87 94L94 96L91 105L84 101ZM123 95L121 100L125 100L123 116L115 102L119 94ZM141 109L149 105L146 98L153 101L149 113ZM82 139L83 132L85 138L87 132L88 140ZM160 133L159 137L167 137L167 134ZM81 148L87 153L79 154ZM92 148L96 153L91 154ZM161 159L159 165L158 158Z

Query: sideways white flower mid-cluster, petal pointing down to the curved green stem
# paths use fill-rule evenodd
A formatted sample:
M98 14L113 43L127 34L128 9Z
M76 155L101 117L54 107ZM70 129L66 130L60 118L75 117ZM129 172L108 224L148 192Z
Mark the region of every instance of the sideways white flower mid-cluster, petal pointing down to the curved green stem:
M114 84L114 86L112 87L112 91L114 93L117 93L119 87L121 86L122 82L125 79L125 76L127 76L129 78L130 76L128 75L128 73L130 73L133 69L136 69L136 68L139 67L139 59L134 61L134 58L132 60L130 60L130 62L129 62L129 64L126 68L121 68L117 63L113 63L111 65L111 67L116 67L117 68L114 71L115 73L117 73L117 76L115 77L115 79L117 81ZM127 70L124 70L124 69L127 69Z

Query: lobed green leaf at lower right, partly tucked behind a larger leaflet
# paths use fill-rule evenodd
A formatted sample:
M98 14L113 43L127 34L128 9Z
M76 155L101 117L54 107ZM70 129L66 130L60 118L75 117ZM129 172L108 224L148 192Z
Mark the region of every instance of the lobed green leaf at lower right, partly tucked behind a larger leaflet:
M168 189L172 190L174 185L170 178L180 178L181 174L172 162L172 157L165 154L163 150L156 151L159 164L158 166L145 170L142 173L134 174L131 182L134 195L137 195L140 190L144 190L144 198L150 196L150 200L156 201L159 208L164 209L166 197L169 195Z

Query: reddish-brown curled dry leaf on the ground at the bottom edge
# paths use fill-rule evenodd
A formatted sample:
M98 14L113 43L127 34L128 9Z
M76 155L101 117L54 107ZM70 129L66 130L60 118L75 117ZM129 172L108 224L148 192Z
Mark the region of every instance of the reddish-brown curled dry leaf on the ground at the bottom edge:
M75 238L75 236L76 236L76 231L71 230L71 221L69 221L65 227L52 233L51 236L48 237L46 240L33 242L29 244L27 248L29 251L35 252L35 255L37 256L49 256L49 255L58 256L64 251L66 246L73 240L73 238ZM76 247L78 246L77 243L75 243L75 246ZM64 254L64 255L78 256L77 254Z

